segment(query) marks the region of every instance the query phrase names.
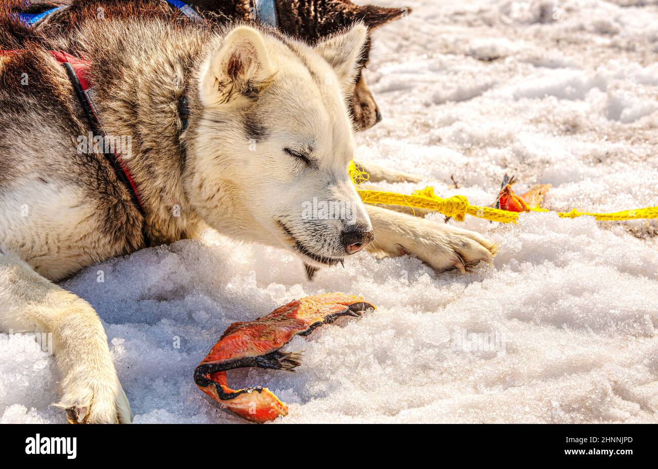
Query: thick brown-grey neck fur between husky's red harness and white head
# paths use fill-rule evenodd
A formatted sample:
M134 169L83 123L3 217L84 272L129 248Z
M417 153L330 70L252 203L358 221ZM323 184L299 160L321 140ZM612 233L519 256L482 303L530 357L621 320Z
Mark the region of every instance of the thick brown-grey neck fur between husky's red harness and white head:
M94 103L109 136L130 138L124 159L153 244L193 235L199 217L184 189L186 155L178 102L198 107L195 71L220 36L184 23L90 22L74 42L91 61ZM192 111L193 113L193 111Z

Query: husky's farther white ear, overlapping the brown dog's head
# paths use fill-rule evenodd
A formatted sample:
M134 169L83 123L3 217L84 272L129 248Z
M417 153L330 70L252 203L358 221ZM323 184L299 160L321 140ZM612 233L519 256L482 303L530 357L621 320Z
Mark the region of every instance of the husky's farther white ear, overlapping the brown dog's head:
M357 77L357 63L368 38L368 28L358 22L341 34L318 42L314 49L334 68L343 91L351 91Z

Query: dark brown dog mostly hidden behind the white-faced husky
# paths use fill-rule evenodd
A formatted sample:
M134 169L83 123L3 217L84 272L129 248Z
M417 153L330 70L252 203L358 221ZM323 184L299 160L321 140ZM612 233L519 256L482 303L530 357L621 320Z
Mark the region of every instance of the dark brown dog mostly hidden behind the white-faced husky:
M368 27L368 38L359 59L359 73L351 94L351 114L357 130L366 130L382 119L372 93L361 71L368 64L370 31L411 12L408 8L386 8L376 5L354 5L350 0L269 0L274 6L273 22L284 33L314 44L323 37L363 21ZM161 0L36 0L25 5L18 0L16 12L38 14L55 7L63 7L41 18L34 27L47 36L70 36L76 24L89 15L111 18L145 12L155 14L179 13L172 5ZM196 9L207 20L263 20L255 7L255 0L189 0L186 4ZM180 15L180 13L179 13ZM274 26L274 25L272 25Z

